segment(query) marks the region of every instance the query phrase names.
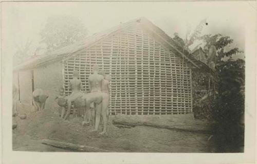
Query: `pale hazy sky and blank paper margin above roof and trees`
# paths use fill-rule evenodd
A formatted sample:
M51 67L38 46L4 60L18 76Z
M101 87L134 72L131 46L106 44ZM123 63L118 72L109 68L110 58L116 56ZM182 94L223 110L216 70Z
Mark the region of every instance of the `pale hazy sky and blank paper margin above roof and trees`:
M94 34L139 17L146 17L170 37L178 32L185 39L187 25L192 30L207 19L202 34L221 33L234 39L233 46L244 50L245 9L238 2L6 2L2 5L2 32L6 53L32 40L39 46L40 30L51 15L77 16L88 34ZM244 58L243 54L236 58Z

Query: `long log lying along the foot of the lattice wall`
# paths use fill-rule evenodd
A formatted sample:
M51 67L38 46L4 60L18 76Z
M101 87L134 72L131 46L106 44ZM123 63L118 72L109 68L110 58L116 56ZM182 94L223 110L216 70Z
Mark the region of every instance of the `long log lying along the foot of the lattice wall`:
M151 118L138 118L132 116L118 116L113 120L115 125L128 125L128 126L151 126L169 130L177 131L189 131L189 132L200 132L210 134L209 124L200 121L179 121L179 120L167 120L159 117Z

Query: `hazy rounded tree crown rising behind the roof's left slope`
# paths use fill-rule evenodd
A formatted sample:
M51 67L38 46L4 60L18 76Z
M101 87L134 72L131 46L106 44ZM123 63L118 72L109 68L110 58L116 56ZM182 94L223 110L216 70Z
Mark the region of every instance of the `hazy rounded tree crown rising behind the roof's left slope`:
M47 45L47 51L52 51L81 41L86 37L87 30L78 17L56 15L48 17L40 34L41 43Z

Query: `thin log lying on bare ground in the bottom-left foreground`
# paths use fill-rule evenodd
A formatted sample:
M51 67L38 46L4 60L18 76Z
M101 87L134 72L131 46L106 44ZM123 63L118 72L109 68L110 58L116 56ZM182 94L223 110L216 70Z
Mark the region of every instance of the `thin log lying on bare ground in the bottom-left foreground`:
M80 152L110 152L108 150L103 150L95 147L88 147L85 145L61 142L61 141L50 140L50 139L43 139L41 143L51 145L52 147L68 149L68 150L76 150Z

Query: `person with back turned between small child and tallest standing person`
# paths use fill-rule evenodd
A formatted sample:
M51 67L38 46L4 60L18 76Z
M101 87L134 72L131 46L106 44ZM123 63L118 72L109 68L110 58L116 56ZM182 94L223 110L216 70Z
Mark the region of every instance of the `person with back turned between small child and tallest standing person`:
M67 108L67 113L64 117L65 120L70 115L71 103L74 102L76 99L83 96L83 93L81 92L82 82L78 78L79 78L79 71L74 70L73 79L70 80L70 82L69 82L69 87L71 89L71 94L66 97L68 108Z

